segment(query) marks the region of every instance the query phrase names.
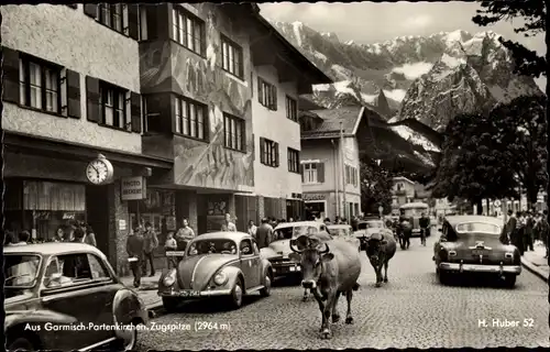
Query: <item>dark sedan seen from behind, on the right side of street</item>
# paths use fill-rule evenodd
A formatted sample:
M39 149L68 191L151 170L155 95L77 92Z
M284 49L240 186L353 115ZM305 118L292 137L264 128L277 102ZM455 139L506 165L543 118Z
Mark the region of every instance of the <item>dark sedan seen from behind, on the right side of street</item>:
M453 274L488 273L504 279L514 287L521 273L519 251L505 245L499 237L503 222L493 217L446 217L441 238L433 245L436 272L442 284L448 284Z

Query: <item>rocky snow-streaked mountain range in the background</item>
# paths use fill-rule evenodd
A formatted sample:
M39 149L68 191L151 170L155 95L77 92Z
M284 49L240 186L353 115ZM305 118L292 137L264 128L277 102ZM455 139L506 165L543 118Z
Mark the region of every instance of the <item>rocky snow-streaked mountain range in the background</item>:
M314 86L312 100L326 108L362 103L393 122L413 118L441 131L457 113L542 94L534 79L513 74L512 55L494 32L358 44L300 22L272 24L336 81Z

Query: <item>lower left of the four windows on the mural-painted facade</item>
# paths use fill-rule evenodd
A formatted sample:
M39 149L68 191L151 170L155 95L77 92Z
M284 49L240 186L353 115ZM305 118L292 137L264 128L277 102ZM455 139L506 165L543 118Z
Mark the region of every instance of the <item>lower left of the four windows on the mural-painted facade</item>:
M187 98L175 98L176 132L194 139L208 140L207 107Z

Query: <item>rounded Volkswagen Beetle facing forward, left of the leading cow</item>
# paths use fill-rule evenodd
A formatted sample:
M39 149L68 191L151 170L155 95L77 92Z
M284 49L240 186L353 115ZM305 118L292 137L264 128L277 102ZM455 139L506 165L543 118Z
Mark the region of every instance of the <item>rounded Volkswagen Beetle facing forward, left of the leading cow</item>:
M183 255L177 268L158 279L158 296L168 311L190 299L224 297L238 309L243 295L270 296L272 265L260 257L256 241L248 233L205 233L190 241L184 253L168 253Z

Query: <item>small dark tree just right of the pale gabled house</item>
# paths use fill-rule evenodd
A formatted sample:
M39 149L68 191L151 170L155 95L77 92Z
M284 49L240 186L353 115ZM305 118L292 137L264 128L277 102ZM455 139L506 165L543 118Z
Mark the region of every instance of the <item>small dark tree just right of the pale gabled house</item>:
M392 173L367 156L362 157L360 164L362 211L377 213L378 207L383 206L384 212L389 212L392 210Z

